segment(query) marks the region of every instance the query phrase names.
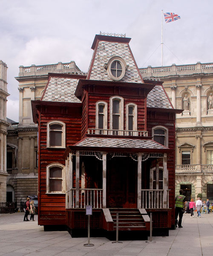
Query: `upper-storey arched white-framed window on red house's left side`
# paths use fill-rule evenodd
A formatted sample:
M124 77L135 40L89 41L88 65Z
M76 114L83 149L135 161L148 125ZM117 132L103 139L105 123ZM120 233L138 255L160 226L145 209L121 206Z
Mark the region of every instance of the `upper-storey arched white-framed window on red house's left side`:
M65 148L65 123L51 121L47 123L47 148Z

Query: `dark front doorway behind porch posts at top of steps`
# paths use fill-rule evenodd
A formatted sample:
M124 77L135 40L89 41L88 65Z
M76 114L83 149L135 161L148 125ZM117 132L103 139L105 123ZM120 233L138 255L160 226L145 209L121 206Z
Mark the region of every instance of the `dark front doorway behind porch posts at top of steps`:
M137 208L137 166L130 157L107 161L107 207Z

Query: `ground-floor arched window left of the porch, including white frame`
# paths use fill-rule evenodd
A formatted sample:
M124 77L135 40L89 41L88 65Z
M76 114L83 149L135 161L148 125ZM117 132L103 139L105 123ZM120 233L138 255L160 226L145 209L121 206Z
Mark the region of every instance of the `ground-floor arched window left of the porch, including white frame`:
M65 166L52 163L46 167L46 193L65 193Z

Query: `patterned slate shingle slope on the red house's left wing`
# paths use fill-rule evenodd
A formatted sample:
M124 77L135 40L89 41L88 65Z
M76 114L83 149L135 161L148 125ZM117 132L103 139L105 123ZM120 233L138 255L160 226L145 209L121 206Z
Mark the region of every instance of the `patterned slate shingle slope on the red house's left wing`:
M51 77L43 96L43 101L52 102L81 102L75 96L79 79Z

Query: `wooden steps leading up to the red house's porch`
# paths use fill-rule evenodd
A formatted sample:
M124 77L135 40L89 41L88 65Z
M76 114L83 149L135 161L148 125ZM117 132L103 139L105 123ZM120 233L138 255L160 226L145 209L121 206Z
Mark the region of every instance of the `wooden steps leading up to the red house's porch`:
M110 208L113 227L116 230L116 214L118 213L119 230L147 230L145 221L138 209Z

